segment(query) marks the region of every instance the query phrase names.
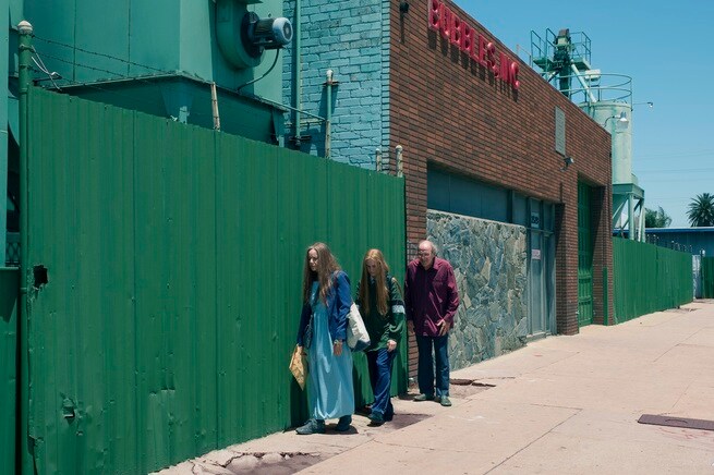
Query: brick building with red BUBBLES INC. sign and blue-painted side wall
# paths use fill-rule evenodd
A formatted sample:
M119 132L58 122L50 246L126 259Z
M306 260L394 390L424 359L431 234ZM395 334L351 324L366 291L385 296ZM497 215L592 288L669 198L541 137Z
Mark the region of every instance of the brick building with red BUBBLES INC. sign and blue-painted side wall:
M437 242L462 294L452 367L612 315L602 126L449 0L297 1L285 100L314 115L288 127L324 153L332 70L330 158L374 167L379 148L394 168L403 147L408 248Z

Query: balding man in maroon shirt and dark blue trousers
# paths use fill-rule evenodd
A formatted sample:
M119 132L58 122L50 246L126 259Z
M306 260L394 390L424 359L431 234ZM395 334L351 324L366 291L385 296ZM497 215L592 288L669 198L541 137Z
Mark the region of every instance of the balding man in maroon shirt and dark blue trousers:
M417 380L420 395L414 401L436 399L449 406L449 329L459 307L459 292L451 265L436 257L431 241L419 243L419 257L407 266L404 303L409 329L419 348ZM434 358L436 394L434 393Z

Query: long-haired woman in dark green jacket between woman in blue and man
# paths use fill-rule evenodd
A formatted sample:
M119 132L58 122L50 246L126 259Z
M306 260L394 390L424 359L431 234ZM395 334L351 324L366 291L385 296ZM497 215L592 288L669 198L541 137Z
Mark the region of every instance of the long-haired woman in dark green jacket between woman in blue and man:
M364 255L356 303L370 333L371 343L365 351L374 392L370 419L378 426L395 415L389 395L391 365L404 329L404 302L399 284L389 275L389 266L379 249L370 249Z

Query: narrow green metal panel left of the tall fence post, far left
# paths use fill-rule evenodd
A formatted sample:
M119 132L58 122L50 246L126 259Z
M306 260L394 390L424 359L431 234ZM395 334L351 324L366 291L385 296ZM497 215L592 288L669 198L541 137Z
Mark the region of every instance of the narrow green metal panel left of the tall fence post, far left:
M15 473L17 405L17 269L0 267L0 473Z

